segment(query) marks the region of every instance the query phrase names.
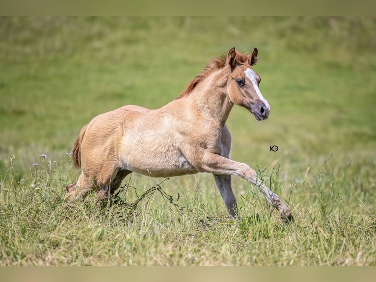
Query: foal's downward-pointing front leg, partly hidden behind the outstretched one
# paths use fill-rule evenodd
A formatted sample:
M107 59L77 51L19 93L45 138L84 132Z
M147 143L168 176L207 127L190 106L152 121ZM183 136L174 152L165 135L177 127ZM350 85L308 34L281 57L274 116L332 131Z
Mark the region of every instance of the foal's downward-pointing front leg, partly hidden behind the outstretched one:
M226 205L227 211L233 219L240 219L236 197L231 188L231 175L213 174L215 183Z

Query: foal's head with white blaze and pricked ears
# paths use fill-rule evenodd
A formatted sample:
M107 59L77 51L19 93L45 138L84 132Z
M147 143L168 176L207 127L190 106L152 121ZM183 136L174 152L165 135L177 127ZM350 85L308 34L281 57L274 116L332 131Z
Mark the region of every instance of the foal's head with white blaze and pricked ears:
M237 58L235 48L230 49L227 55L227 64L231 74L227 80L228 95L235 105L239 105L253 113L257 120L267 119L270 105L260 92L260 77L252 69L257 62L257 49L244 60Z

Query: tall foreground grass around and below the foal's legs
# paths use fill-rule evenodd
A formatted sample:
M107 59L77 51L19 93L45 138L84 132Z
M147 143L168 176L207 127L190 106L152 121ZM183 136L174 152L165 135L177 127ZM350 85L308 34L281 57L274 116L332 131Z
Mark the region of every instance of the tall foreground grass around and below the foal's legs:
M289 199L290 225L245 183L236 189L242 220L233 222L204 174L189 189L191 179L134 176L110 206L94 197L64 206L66 176L51 162L31 169L31 184L10 167L1 265L375 265L375 175L330 162L303 182L260 172Z

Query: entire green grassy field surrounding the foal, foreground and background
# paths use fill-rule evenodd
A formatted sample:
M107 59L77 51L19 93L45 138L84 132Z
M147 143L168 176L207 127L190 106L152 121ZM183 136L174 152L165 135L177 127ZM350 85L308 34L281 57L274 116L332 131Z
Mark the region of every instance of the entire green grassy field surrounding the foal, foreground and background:
M271 112L234 107L231 158L294 223L235 177L233 222L210 174L134 173L111 207L63 206L83 125L165 105L232 47L258 48ZM1 17L0 265L376 266L375 78L371 17Z

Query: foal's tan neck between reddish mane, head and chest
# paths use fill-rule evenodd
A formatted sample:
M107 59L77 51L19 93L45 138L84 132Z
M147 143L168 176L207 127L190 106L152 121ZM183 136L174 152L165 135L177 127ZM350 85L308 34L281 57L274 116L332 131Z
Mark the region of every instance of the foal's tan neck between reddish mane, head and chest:
M186 98L191 102L190 107L223 127L234 105L228 98L226 86L225 73L217 71L197 85Z

